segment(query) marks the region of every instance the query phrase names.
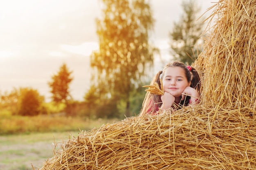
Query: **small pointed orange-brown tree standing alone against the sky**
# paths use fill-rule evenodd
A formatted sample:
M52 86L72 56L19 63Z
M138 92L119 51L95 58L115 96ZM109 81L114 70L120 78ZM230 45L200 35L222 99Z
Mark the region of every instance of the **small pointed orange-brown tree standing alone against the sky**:
M52 76L52 82L48 84L54 102L67 104L68 97L72 98L69 92L69 85L73 80L71 73L72 71L69 71L66 64L63 63L58 73Z

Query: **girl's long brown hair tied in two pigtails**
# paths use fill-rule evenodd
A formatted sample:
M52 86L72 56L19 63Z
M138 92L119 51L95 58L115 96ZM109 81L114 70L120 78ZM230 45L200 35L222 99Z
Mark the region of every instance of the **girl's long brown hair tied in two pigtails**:
M152 82L150 85L153 85L155 82L157 82L159 88L161 88L161 82L160 79L164 77L166 68L168 67L180 67L184 70L184 73L186 75L186 79L190 83L190 87L195 88L195 90L198 91L200 94L200 88L201 88L201 82L200 82L200 77L198 72L195 70L195 68L191 67L189 68L182 62L175 61L175 62L170 62L164 66L163 71L159 71L155 77L153 78ZM164 89L162 89L164 90ZM190 97L187 96L185 97L184 101L180 102L180 106L187 106L189 104L189 99ZM146 113L155 113L157 110L161 107L162 105L162 100L161 100L161 95L154 95L149 92L146 93L146 96L144 98L144 102L142 104L141 112L140 115L144 115Z

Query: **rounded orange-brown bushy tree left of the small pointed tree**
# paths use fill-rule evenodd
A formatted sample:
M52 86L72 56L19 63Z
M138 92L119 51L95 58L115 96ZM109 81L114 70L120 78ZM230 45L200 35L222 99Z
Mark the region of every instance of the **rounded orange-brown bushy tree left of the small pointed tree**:
M41 113L44 97L32 88L20 88L18 97L18 115L35 116Z

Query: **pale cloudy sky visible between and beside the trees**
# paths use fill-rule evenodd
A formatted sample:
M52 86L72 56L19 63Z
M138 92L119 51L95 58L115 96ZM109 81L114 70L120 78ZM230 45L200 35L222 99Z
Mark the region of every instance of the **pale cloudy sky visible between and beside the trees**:
M197 1L200 14L216 2ZM150 40L160 49L162 60L155 62L162 66L171 59L168 34L182 14L181 0L150 2L155 19ZM100 0L1 0L0 94L33 88L50 101L48 82L66 63L74 78L70 93L82 101L90 88L90 54L98 49L95 19L103 16L102 8Z

